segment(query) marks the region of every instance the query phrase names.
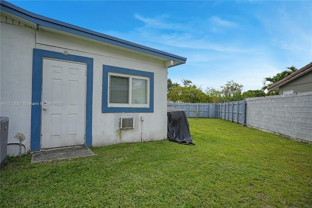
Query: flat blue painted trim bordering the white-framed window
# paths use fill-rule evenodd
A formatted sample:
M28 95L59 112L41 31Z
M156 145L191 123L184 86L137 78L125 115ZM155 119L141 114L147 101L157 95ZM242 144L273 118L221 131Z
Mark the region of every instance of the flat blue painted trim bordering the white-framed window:
M108 107L108 80L109 72L129 74L150 78L150 106L149 107ZM153 113L154 112L154 73L138 71L134 69L121 68L116 66L103 65L103 84L102 84L102 113Z

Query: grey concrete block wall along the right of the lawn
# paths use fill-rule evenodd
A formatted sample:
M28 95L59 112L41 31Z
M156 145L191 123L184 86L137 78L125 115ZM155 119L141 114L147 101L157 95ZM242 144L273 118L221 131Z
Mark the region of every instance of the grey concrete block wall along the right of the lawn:
M246 125L312 142L312 92L246 99Z

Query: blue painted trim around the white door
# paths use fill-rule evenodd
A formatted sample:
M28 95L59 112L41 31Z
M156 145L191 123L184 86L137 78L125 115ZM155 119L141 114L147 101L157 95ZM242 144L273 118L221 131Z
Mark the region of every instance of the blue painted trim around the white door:
M92 146L92 96L93 96L93 59L75 55L64 55L59 52L34 48L33 50L33 79L32 102L41 102L42 91L42 62L43 58L82 62L87 64L87 95L86 95L86 122L85 122L85 146ZM31 107L31 146L30 150L40 151L41 139L41 106Z

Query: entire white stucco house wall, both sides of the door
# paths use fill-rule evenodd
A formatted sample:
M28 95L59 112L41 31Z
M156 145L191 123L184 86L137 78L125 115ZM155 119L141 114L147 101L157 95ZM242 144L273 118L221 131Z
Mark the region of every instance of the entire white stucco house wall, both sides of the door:
M77 37L64 37L47 31L36 31L1 23L1 102L31 102L33 48L93 58L92 145L161 140L167 137L167 68L164 62L87 42ZM103 64L154 72L153 113L102 113ZM30 150L31 105L1 106L1 116L10 118L9 142L18 142L16 133L23 133L23 144ZM144 116L144 121L141 121ZM120 130L120 117L134 117L135 128ZM19 147L8 148L18 154Z

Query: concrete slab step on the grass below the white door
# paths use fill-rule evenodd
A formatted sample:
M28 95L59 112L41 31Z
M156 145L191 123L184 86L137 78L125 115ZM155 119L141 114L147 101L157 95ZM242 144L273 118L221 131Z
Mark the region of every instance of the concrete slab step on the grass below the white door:
M46 162L52 160L62 160L76 157L86 157L95 155L89 148L79 147L67 147L41 150L40 152L34 152L31 156L32 163Z

